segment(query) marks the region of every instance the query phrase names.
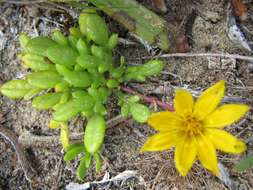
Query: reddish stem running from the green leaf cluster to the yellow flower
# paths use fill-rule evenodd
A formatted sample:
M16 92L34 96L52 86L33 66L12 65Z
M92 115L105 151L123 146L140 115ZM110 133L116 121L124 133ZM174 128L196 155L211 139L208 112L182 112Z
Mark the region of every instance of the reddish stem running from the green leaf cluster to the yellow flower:
M161 107L164 110L174 111L174 107L172 105L169 105L168 103L160 101L156 98L148 97L148 96L145 96L143 94L140 94L140 93L134 91L131 88L122 86L121 90L123 90L124 92L127 92L129 94L134 94L134 95L139 96L146 103L154 103L154 104L158 105L159 107Z

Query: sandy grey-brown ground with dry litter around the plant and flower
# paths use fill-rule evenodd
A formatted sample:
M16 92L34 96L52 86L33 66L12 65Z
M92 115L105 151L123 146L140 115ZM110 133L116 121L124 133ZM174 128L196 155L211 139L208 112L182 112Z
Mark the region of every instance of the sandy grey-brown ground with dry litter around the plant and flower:
M152 8L149 1L141 1L145 6ZM253 7L252 1L248 6ZM219 0L206 1L168 1L168 13L161 15L168 22L175 22L180 31L184 31L184 22L193 9L197 10L197 17L192 27L191 52L227 52L242 55L251 55L238 48L226 34L226 5ZM66 11L73 18L69 20ZM253 8L249 10L253 14ZM210 16L211 15L211 16ZM212 17L212 15L215 15ZM10 79L20 78L28 71L21 67L17 58L20 46L18 35L27 32L31 36L49 35L60 27L76 23L78 11L74 12L65 6L52 4L13 5L0 4L0 83ZM252 17L252 16L251 16ZM253 21L249 17L243 24L252 31ZM120 37L133 40L125 29L107 18L111 30L119 32ZM66 23L67 22L67 23ZM252 34L252 32L251 32ZM141 44L120 44L116 55L124 55L127 63L140 64L149 54ZM245 61L231 59L208 58L168 58L165 72L148 80L144 84L132 83L133 88L150 96L157 96L163 100L172 101L175 87L187 87L191 90L201 91L214 82L225 79L227 82L226 95L229 97L244 98L246 103L253 102L253 72ZM211 61L216 64L212 66ZM228 62L226 65L225 62ZM231 63L235 63L231 66ZM119 113L110 101L110 114L112 118ZM13 130L18 136L29 132L30 135L53 136L59 131L47 127L51 113L37 111L31 107L30 101L13 101L0 96L0 112L5 113L1 127ZM227 128L228 131L247 141L253 136L251 113L240 123ZM71 124L72 132L81 132L83 122L80 118ZM109 183L94 187L93 189L228 189L228 187L204 170L199 162L195 163L189 175L180 177L174 167L173 150L163 153L139 152L145 139L154 131L148 126L138 125L126 121L106 132L102 155L104 164L99 174L94 168L90 169L85 181L101 180L106 172L115 176L125 170L137 172L136 179L129 179L124 183ZM219 161L230 175L235 189L253 189L253 170L238 173L233 165L246 155L253 154L253 141L249 141L248 150L242 155L228 155L219 152ZM77 161L64 163L63 152L60 147L52 148L50 145L30 147L26 149L30 159L38 170L38 176L32 182L26 180L12 146L0 137L0 185L2 189L64 189L70 182L79 182L75 178Z

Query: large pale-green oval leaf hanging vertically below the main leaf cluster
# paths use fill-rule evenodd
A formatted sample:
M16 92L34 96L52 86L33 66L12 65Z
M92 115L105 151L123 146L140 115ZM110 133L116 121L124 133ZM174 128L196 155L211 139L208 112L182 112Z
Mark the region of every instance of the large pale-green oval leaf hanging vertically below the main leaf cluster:
M102 116L91 117L84 132L84 145L90 154L97 152L104 142L106 123Z

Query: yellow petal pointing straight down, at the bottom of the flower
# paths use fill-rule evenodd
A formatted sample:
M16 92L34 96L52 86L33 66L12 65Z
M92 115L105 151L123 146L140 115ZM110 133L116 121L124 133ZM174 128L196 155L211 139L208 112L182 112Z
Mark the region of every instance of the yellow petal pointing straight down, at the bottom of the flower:
M182 176L186 176L191 169L197 155L195 142L186 137L176 145L175 162L176 168Z

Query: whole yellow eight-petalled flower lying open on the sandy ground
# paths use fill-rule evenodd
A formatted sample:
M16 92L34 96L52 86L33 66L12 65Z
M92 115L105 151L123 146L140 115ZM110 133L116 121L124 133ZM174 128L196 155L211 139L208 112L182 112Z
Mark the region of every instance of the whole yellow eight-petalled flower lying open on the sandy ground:
M246 145L222 130L243 117L249 106L225 104L218 107L225 92L222 80L204 91L196 102L186 90L176 90L175 112L154 113L148 124L159 133L150 137L142 151L163 151L175 147L175 165L185 176L196 159L219 174L216 149L227 153L242 153Z

